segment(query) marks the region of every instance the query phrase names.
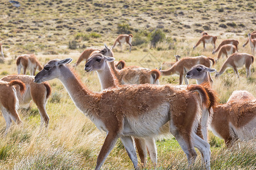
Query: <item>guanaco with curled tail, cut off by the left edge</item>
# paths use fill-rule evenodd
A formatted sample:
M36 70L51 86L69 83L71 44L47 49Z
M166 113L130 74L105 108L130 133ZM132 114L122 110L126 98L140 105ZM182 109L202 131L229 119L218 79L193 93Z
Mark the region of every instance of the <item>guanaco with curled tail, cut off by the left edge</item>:
M20 88L20 93L23 93L26 86L20 80L12 80L11 82L0 80L0 108L6 122L5 134L7 134L11 126L11 120L18 124L22 122L19 118L19 114L17 113L19 104L16 96L16 90L13 87L16 84Z

